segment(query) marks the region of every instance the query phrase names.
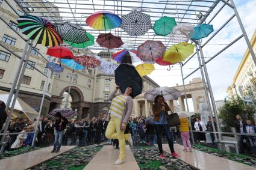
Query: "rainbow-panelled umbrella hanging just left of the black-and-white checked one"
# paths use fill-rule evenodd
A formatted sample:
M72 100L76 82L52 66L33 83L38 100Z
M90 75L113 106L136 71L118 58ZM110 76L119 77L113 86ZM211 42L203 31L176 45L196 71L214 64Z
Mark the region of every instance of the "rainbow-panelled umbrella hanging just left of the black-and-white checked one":
M98 30L117 28L121 23L120 17L110 11L98 11L86 19L87 25Z

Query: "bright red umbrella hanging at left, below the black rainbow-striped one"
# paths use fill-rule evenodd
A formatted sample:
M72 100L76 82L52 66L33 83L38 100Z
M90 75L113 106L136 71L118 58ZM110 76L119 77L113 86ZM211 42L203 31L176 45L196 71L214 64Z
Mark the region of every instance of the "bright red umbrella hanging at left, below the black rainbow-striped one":
M70 49L63 46L49 47L46 54L60 59L72 59L75 57Z

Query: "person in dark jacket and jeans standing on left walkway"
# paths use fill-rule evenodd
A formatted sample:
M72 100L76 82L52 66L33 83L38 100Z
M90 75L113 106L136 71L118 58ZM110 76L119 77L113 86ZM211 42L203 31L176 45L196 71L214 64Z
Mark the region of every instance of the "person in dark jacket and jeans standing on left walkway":
M67 119L61 116L60 112L57 112L55 115L55 134L54 134L54 149L51 151L51 153L54 152L59 152L61 143L62 143L62 138L64 134L64 129L66 129L67 126Z

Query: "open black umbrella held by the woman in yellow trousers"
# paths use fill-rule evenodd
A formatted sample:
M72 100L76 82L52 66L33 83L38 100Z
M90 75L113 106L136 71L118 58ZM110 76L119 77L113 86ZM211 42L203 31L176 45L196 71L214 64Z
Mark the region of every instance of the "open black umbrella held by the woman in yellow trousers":
M133 87L133 97L142 93L142 77L137 70L130 64L120 64L116 70L114 70L114 76L116 84L120 86L122 93L128 86Z

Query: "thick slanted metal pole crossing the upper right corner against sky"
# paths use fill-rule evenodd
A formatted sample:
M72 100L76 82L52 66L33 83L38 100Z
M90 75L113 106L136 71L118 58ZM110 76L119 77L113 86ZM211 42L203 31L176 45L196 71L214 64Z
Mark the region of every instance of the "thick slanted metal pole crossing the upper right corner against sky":
M242 20L240 19L239 13L238 13L237 8L236 8L236 5L235 5L233 0L230 0L230 3L231 3L231 5L233 5L233 10L234 10L234 13L236 14L237 21L239 23L241 31L243 32L243 37L245 38L245 41L246 41L247 47L249 49L249 52L251 53L252 59L254 60L254 64L256 65L256 56L255 56L254 50L252 49L250 40L249 40L249 38L246 34L245 28L243 27L243 23L242 23Z

